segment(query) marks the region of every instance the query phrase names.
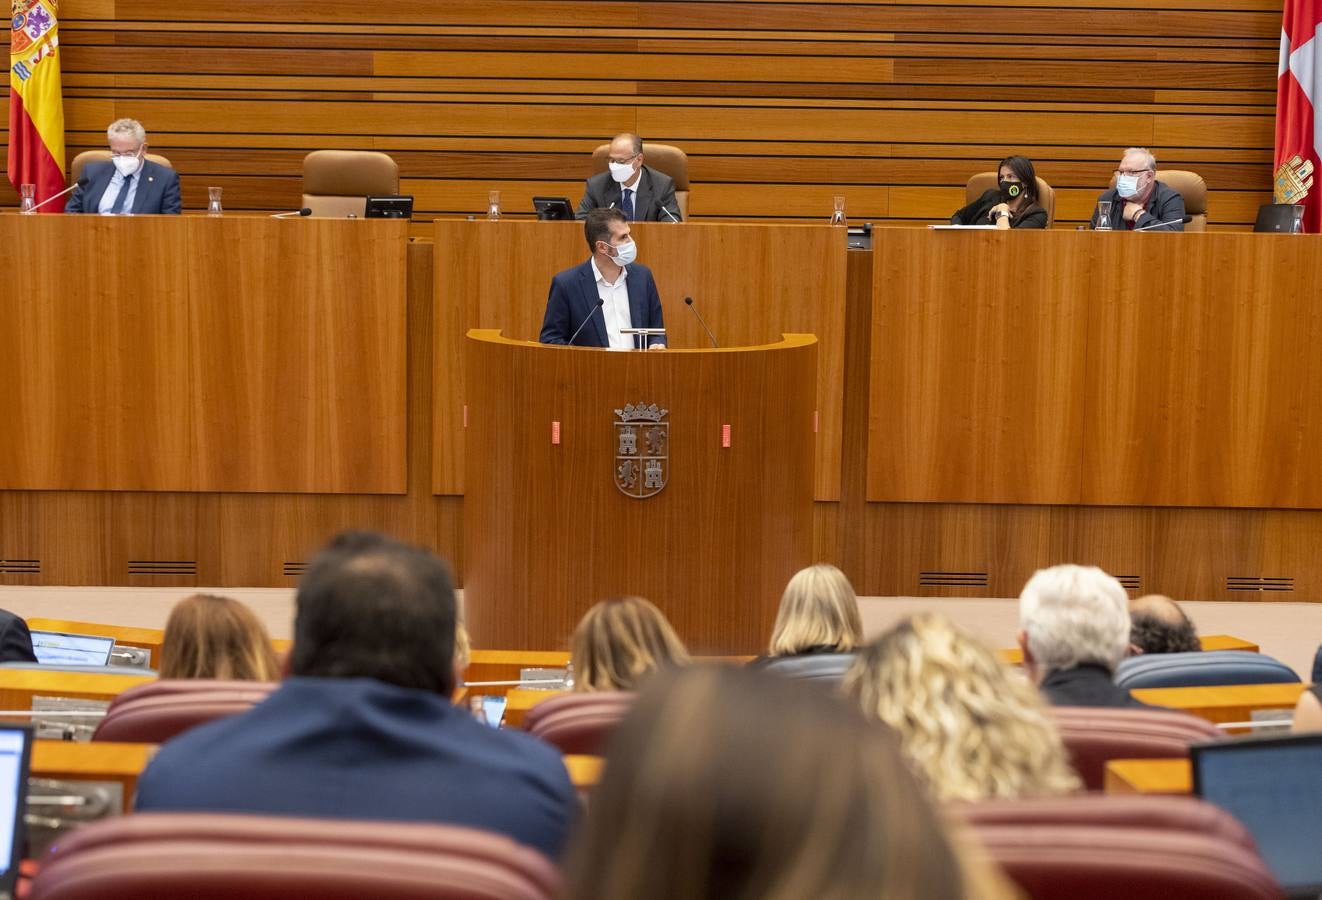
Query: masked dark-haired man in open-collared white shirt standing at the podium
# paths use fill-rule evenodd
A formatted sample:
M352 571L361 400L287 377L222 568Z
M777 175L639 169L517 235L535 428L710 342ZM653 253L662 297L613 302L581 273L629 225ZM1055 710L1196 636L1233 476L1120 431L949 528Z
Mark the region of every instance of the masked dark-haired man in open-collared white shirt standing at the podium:
M583 223L592 256L551 279L542 319L542 344L575 344L632 350L625 328L665 328L652 272L633 262L637 244L617 209L594 209ZM665 336L648 337L649 350L664 350Z

